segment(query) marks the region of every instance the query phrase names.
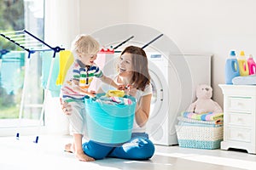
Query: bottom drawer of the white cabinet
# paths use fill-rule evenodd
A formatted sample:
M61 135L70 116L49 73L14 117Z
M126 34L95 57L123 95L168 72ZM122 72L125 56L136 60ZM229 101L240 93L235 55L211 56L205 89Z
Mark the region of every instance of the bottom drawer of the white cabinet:
M251 132L251 129L228 127L226 135L228 140L236 140L249 143L251 142Z

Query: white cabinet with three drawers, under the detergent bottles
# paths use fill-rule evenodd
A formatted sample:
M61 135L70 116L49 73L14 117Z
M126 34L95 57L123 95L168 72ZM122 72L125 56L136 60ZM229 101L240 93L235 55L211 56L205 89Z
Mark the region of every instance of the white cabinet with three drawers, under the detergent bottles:
M222 150L236 148L256 154L256 86L220 84L224 94Z

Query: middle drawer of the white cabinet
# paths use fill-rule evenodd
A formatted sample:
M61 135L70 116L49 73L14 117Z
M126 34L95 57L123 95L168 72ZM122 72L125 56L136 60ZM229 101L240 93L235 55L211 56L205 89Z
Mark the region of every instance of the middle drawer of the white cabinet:
M227 113L227 123L228 125L252 127L253 116L252 114L246 113Z

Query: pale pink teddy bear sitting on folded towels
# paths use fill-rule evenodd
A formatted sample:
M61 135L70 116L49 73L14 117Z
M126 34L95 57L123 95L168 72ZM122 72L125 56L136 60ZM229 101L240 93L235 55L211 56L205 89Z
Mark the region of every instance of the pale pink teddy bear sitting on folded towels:
M189 105L188 112L203 114L207 112L222 113L222 108L212 98L212 87L207 84L200 84L196 88L196 100Z

